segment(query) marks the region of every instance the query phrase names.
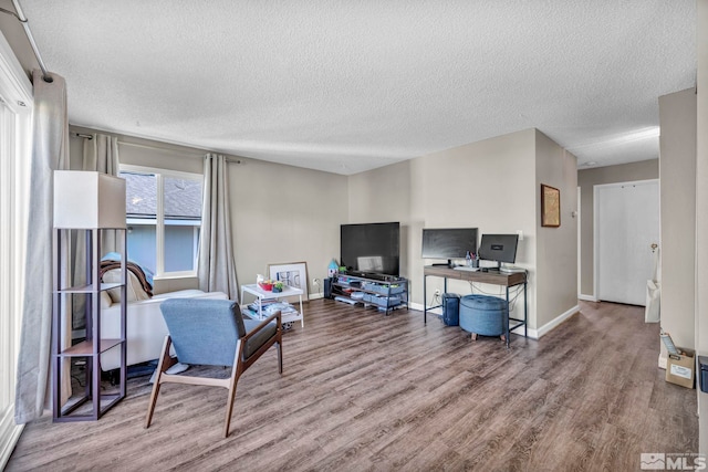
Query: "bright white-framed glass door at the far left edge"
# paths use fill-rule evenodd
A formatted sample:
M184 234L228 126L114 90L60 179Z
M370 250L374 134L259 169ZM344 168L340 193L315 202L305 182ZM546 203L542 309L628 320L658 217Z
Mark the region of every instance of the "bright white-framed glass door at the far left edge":
M14 423L17 363L32 148L32 84L0 33L0 470L23 426Z

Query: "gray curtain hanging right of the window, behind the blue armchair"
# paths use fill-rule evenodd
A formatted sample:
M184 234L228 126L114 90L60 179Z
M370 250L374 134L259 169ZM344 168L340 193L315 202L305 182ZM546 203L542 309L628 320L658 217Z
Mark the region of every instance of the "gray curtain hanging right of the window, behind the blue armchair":
M206 155L199 237L199 289L205 292L223 292L230 300L238 300L228 181L226 157Z

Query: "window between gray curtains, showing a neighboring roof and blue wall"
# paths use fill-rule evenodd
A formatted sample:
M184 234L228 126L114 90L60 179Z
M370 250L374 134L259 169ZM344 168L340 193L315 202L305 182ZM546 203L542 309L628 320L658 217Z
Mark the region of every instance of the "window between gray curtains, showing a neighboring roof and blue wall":
M201 176L121 166L126 180L128 259L156 277L195 276Z

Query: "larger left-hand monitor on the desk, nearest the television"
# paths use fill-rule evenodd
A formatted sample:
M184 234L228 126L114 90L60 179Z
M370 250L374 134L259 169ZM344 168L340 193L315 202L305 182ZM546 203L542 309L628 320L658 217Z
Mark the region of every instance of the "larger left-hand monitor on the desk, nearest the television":
M477 253L477 228L423 229L423 259L447 259L439 265L452 266L452 260L465 259L468 251Z

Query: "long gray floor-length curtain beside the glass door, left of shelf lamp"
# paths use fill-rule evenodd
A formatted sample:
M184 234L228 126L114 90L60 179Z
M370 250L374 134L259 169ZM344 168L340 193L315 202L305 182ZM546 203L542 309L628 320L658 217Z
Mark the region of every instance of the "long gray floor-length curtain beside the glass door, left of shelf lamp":
M14 419L21 424L42 416L52 339L53 171L69 168L66 84L51 74L46 83L33 72L33 147L20 357Z

